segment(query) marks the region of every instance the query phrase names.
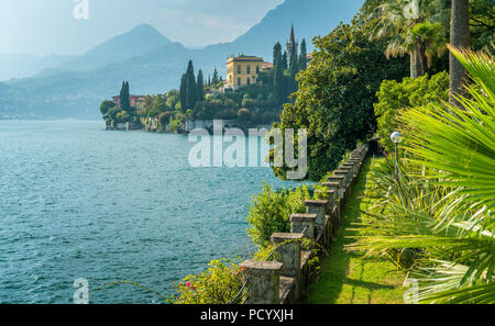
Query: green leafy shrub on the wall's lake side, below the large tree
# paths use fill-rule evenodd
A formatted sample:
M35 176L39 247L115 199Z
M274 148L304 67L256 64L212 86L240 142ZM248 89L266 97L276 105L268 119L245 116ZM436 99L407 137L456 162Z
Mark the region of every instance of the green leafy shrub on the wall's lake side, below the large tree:
M263 184L263 192L253 198L248 222L248 234L261 248L270 246L274 233L290 232L290 215L306 211L305 200L311 199L308 186L295 190L274 191L273 186Z

